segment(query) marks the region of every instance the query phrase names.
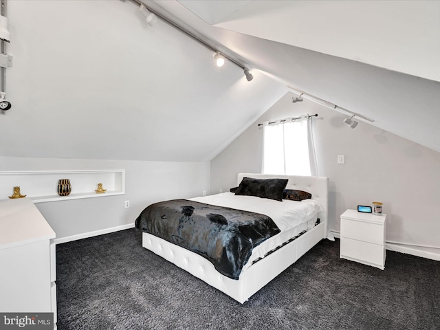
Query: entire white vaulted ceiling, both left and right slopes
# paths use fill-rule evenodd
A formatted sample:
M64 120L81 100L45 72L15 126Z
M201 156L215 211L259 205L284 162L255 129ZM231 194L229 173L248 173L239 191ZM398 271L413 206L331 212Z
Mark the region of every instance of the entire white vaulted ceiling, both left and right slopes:
M206 161L289 89L440 151L439 1L8 1L0 155ZM5 140L3 140L5 141Z

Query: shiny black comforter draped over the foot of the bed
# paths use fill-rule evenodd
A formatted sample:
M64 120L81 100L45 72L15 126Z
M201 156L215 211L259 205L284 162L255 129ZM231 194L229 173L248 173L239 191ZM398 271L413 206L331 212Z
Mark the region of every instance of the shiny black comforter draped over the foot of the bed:
M148 206L135 225L203 256L219 273L234 280L239 278L252 248L280 232L264 214L186 199Z

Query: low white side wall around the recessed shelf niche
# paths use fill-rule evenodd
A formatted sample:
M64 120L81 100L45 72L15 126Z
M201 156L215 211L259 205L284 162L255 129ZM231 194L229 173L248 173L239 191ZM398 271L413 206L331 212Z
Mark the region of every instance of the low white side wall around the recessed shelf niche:
M131 225L150 203L209 193L209 162L0 157L0 171L102 169L126 170L125 195L36 203L57 239Z

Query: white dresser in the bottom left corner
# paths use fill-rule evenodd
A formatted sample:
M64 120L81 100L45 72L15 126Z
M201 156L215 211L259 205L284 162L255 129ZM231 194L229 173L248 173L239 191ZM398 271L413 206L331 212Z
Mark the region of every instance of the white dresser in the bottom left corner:
M0 311L53 312L55 232L31 199L0 200Z

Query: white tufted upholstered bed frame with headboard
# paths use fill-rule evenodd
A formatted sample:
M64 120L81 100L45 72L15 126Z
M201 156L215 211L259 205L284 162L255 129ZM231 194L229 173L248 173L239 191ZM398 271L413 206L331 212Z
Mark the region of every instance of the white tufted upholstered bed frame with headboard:
M151 250L162 258L174 263L183 270L200 278L212 287L234 298L239 303L244 303L253 294L259 291L267 283L272 281L278 274L281 274L289 265L295 263L305 252L310 250L321 239L327 237L327 216L328 216L328 177L300 177L292 175L263 175L257 173L239 173L237 184L240 184L243 177L254 177L259 179L281 178L289 179L287 189L305 190L310 192L312 199L316 199L324 209L318 214L320 223L294 241L284 245L282 248L269 254L259 262L254 263L241 272L238 280L232 280L223 276L215 270L208 260L169 243L164 239L153 236L146 232L142 233L142 246Z

